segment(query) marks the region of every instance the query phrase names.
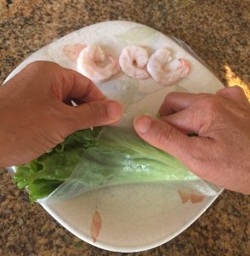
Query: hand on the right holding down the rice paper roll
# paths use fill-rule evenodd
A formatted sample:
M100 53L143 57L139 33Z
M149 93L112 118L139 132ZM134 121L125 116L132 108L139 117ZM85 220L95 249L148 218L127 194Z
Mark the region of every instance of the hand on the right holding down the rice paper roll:
M140 137L173 154L198 177L250 194L250 104L240 87L215 95L173 92L159 113L161 119L134 120Z

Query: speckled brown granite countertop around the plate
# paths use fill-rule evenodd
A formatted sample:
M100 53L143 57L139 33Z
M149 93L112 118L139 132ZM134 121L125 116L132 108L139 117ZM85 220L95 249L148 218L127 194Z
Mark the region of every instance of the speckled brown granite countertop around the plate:
M32 52L104 20L133 20L185 41L250 98L250 5L234 1L0 0L0 83ZM129 255L249 255L250 197L224 191L181 235ZM122 254L122 253L121 253ZM80 241L0 171L0 255L119 255Z

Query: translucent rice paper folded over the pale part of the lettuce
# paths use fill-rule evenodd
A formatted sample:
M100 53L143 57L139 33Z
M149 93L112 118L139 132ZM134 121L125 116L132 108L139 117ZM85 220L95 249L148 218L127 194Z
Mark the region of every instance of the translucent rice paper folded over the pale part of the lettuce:
M96 146L82 154L71 177L46 201L69 200L93 189L132 183L165 183L169 189L216 195L219 188L196 177L170 154L152 147L133 129L134 114L105 128Z

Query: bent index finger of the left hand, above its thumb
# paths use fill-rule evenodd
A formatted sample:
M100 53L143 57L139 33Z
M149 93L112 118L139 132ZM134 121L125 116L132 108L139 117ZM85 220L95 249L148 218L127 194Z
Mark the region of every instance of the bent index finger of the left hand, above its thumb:
M76 71L62 70L63 91L62 101L70 99L77 104L101 101L106 99L94 82Z

